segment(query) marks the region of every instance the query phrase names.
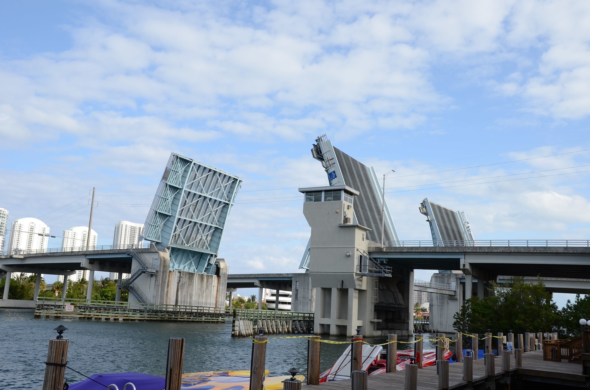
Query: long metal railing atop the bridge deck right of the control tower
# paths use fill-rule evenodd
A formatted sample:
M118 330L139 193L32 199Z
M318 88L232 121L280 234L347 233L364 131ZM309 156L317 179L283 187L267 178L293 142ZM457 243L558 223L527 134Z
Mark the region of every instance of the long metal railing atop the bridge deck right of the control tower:
M590 247L590 240L417 240L386 241L384 246L546 246L546 247ZM381 247L380 243L369 242L371 250Z

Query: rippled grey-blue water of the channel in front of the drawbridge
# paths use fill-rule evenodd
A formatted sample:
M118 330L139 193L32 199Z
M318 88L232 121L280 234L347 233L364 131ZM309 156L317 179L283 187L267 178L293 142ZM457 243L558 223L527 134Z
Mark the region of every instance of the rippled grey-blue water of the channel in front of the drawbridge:
M0 309L0 388L41 388L48 340L57 335L53 328L60 324L68 328L64 333L70 340L68 366L89 376L126 371L164 376L171 337L186 338L183 372L250 369L251 339L232 338L231 323L36 319L33 310ZM322 338L348 341L346 337ZM375 344L386 339L366 341ZM424 348L431 346L425 342ZM322 343L322 371L332 366L345 349L344 344ZM398 349L407 348L402 344ZM293 367L305 375L307 339L273 339L266 356L270 375L289 375L287 371ZM84 379L69 369L65 378L68 383Z

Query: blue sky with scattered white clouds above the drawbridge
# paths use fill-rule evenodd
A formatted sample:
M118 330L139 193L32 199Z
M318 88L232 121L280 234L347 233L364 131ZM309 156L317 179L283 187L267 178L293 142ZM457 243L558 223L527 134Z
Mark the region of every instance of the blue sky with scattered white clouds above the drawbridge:
M587 1L0 0L0 207L61 235L96 187L112 244L175 151L244 179L231 273L297 272L297 187L327 183L326 133L396 170L402 240L431 239L425 197L476 239L588 239L589 18Z

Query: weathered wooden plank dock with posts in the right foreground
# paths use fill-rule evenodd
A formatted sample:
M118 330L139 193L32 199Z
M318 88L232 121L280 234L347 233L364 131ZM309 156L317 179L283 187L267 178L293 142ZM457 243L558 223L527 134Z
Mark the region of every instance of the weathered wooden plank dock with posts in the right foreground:
M587 376L582 375L582 365L568 362L543 361L543 351L526 352L522 355L522 368L514 368L514 355L511 356L510 373L504 373L501 369L501 358L494 359L495 379L497 388L510 378L516 381L537 382L553 384L555 388L560 386L572 386L586 388ZM506 379L504 379L506 378ZM405 371L388 372L386 374L370 375L368 389L371 390L404 390ZM473 386L483 385L488 379L484 368L484 359L473 361ZM310 390L350 390L350 379L343 381L327 382L320 385L307 385ZM463 381L463 363L449 365L449 389L467 388L467 382ZM506 387L508 388L508 387ZM418 390L438 389L438 376L436 366L425 367L418 370Z

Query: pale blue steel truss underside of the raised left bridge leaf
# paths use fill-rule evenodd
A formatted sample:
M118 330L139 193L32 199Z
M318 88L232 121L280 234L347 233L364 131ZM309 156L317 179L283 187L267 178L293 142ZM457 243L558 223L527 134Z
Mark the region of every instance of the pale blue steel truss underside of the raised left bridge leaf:
M242 179L172 153L145 223L146 240L170 248L170 269L212 274Z

